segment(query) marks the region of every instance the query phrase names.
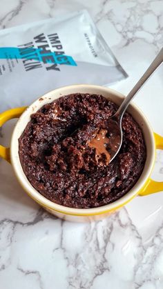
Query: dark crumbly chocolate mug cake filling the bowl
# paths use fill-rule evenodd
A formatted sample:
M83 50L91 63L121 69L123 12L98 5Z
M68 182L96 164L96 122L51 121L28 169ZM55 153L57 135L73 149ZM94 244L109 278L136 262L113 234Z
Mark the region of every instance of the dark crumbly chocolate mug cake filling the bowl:
M106 166L88 142L117 110L97 94L69 94L46 104L19 138L21 166L47 199L71 208L95 208L119 199L139 179L146 161L142 130L130 114L122 120L123 143ZM109 134L109 132L108 132Z

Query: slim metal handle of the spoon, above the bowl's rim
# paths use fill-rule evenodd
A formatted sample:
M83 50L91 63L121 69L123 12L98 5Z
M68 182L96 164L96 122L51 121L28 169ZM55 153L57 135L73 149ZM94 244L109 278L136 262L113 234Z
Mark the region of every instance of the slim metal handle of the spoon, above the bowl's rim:
M127 97L122 102L122 105L119 106L119 109L115 113L115 116L119 119L119 121L122 120L122 117L124 115L124 112L126 111L126 108L128 107L128 104L131 102L131 100L135 97L135 94L144 86L144 83L148 80L149 77L155 72L155 70L160 66L160 64L163 62L163 48L160 50L159 54L157 54L157 57L153 60L151 63L151 66L148 67L146 72L143 74L141 79L137 81L131 92L128 93Z

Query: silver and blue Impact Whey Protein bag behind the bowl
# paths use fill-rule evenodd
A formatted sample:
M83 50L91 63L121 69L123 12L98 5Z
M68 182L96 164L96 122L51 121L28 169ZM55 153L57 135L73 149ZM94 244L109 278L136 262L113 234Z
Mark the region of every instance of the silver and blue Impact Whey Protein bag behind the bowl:
M86 10L0 31L0 110L74 83L127 77Z

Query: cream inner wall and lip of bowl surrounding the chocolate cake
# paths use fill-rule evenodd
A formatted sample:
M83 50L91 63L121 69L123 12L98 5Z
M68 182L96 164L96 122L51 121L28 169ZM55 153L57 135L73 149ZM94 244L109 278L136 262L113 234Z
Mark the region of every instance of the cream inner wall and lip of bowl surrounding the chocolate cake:
M17 121L17 124L15 126L15 130L12 134L12 140L11 140L11 147L10 147L10 153L11 153L11 161L12 166L15 170L15 173L17 175L17 178L19 179L19 182L21 183L21 186L28 192L28 194L35 199L37 202L39 202L42 206L46 206L52 210L57 210L59 212L64 212L67 214L77 214L77 215L94 215L94 214L100 214L106 210L113 210L114 208L121 206L122 203L126 203L129 199L137 195L137 192L142 188L145 181L148 179L149 175L151 174L151 169L153 167L154 159L155 159L155 142L153 138L153 131L151 129L150 124L148 123L148 120L144 116L143 112L135 106L134 103L132 103L128 107L128 112L130 112L139 123L139 125L142 127L144 139L146 142L147 147L147 158L146 163L144 166L144 170L142 172L142 175L140 179L137 181L135 186L128 192L124 197L118 199L117 201L110 203L106 206L102 206L99 208L90 208L90 209L75 209L75 208L68 208L65 206L60 206L56 203L53 203L52 201L46 199L43 197L35 188L33 188L26 178L26 175L24 174L21 163L19 161L19 146L18 146L18 139L21 136L24 128L26 128L26 125L28 121L30 121L30 114L36 112L41 106L43 106L46 103L50 103L51 101L64 96L66 94L70 93L90 93L90 94L102 94L107 99L110 99L111 101L117 103L120 105L122 103L124 96L120 94L119 92L116 92L115 90L111 90L109 88L103 88L101 86L89 86L89 85L75 85L75 86L66 86L64 88L58 88L56 90L52 90L48 92L47 94L44 94L41 99L37 99L34 103L32 103L25 112L21 115L19 120Z

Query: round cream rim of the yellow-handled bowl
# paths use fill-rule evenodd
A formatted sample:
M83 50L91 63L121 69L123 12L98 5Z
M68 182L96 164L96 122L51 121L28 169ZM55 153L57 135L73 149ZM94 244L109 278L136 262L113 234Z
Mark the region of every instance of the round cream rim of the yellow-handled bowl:
M148 119L146 119L142 110L140 110L140 108L137 105L135 105L135 103L132 102L129 107L136 110L136 112L138 114L140 114L140 116L142 117L144 123L146 123L146 126L148 126L148 132L150 134L149 137L151 139L151 144L152 144L152 152L151 152L151 156L150 156L151 159L149 161L150 165L146 169L146 173L145 173L145 176L143 177L142 181L139 182L139 179L138 179L137 183L135 183L135 186L133 186L133 188L131 188L131 190L129 190L123 197L117 199L113 203L109 203L107 205L100 206L97 208L70 208L70 207L62 206L62 205L59 205L57 203L50 201L49 199L47 199L46 197L41 195L41 193L39 193L37 190L35 190L35 188L32 187L32 185L30 184L30 182L26 178L26 175L23 172L23 169L21 167L21 163L19 161L18 149L15 148L15 145L16 145L16 143L18 143L18 139L19 139L19 137L17 137L17 133L18 133L20 128L21 128L21 133L22 133L24 128L26 127L26 126L24 126L24 127L21 126L22 125L21 122L22 122L23 118L24 117L30 117L30 114L34 112L33 110L37 111L45 103L51 102L53 100L50 98L50 97L52 97L52 93L60 95L62 92L64 92L63 95L66 95L65 91L68 89L73 89L73 88L77 88L77 89L80 89L80 88L81 89L82 88L83 89L84 88L91 89L92 88L94 90L97 89L97 90L101 90L101 91L107 92L107 93L110 92L115 97L120 98L120 99L124 99L124 95L120 92L117 92L116 90L113 90L111 88L102 87L102 86L89 85L89 84L75 84L72 86L64 86L61 88L57 88L55 90L50 90L49 92L47 92L46 94L44 94L43 96L41 96L37 100L35 100L33 103L31 103L30 106L28 106L28 108L23 112L23 114L21 114L21 117L19 117L19 120L17 121L17 124L15 126L15 129L12 132L11 146L10 146L11 163L12 163L12 166L14 168L15 175L16 175L19 183L23 187L23 189L28 193L28 195L30 195L30 197L32 197L32 199L37 201L37 203L39 203L41 206L44 206L44 207L48 208L49 210L55 210L56 212L64 213L66 215L76 215L76 216L100 215L100 214L103 214L104 212L115 210L115 208L119 208L119 207L123 206L125 203L128 203L128 201L131 201L131 199L133 199L133 197L135 197L138 194L138 192L140 192L140 190L144 186L144 183L146 183L146 181L148 180L148 177L151 175L151 171L152 171L154 160L155 160L155 140L154 140L154 136L153 136L153 129L151 128L151 124L148 122ZM80 91L78 91L78 92L82 93ZM88 93L90 93L90 92L88 92ZM95 92L93 92L93 93L95 93ZM69 94L69 93L67 93L67 94ZM97 94L99 94L99 92L97 92ZM40 99L44 99L44 101L39 101ZM55 99L55 97L54 97L54 99ZM39 106L38 106L38 104L39 104ZM22 127L23 127L23 129L22 129ZM21 133L19 133L19 135L21 135ZM16 147L18 147L18 145L16 145ZM140 178L141 178L141 176L140 176Z

